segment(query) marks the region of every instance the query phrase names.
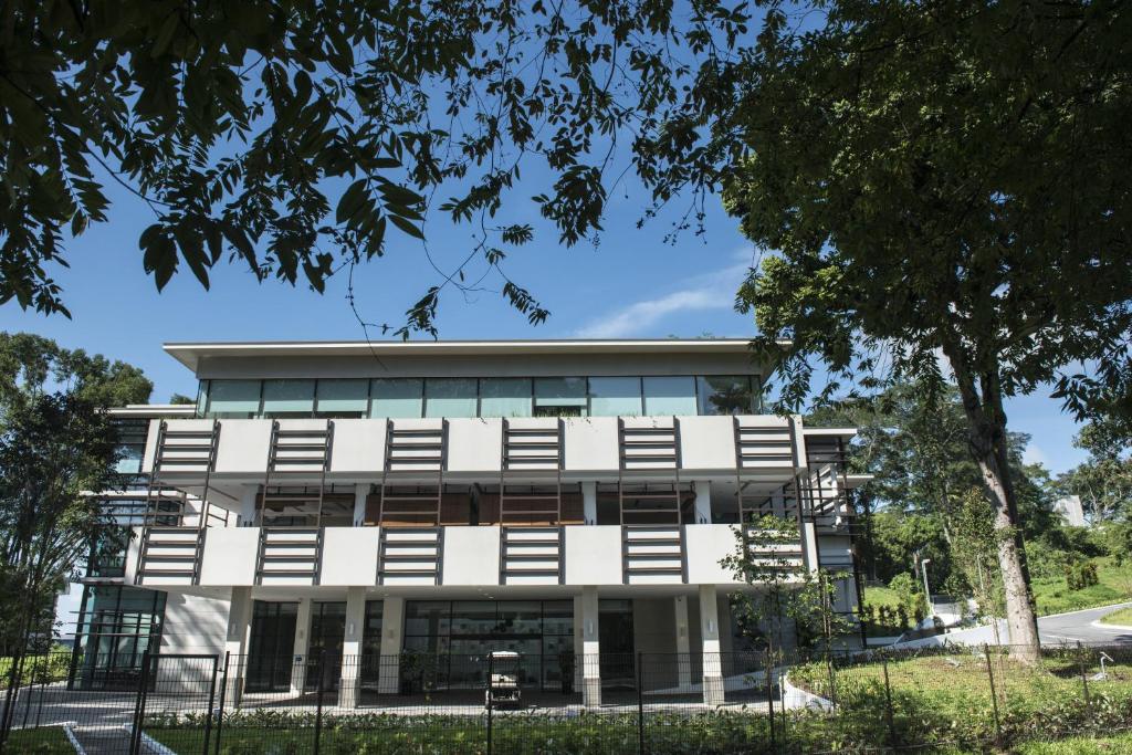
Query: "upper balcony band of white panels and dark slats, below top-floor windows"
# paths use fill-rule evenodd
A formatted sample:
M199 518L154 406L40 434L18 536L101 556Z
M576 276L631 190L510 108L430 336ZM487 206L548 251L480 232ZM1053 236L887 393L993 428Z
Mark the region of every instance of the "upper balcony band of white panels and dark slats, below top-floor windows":
M581 475L729 472L794 474L798 422L774 415L515 420L154 420L144 469L169 482L286 472L294 480L430 481L505 475L557 483ZM436 474L432 474L432 473Z

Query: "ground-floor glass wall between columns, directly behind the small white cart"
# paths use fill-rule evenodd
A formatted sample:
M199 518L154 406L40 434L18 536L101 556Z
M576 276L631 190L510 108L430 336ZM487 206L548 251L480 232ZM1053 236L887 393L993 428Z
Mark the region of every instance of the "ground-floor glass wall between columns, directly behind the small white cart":
M488 653L521 655L522 684L568 686L574 675L572 600L457 600L405 603L402 677L410 687L482 686ZM414 677L419 677L415 678ZM426 678L427 677L427 678Z

